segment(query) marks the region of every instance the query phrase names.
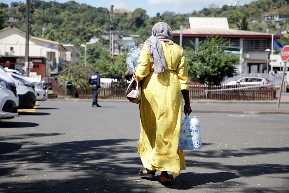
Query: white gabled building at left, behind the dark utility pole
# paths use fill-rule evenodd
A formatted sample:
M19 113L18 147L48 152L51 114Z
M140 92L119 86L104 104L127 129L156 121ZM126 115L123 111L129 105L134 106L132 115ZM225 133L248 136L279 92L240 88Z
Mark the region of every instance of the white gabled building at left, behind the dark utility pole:
M25 45L25 32L15 27L0 30L0 64L8 68L15 64L24 65L22 61L25 57ZM3 59L7 57L12 59ZM59 66L66 62L66 49L57 41L29 36L29 60L35 57L45 58L45 62L44 59L35 60L42 63L39 63L37 70L31 69L31 72L36 71L42 77L50 77L52 73L58 73Z

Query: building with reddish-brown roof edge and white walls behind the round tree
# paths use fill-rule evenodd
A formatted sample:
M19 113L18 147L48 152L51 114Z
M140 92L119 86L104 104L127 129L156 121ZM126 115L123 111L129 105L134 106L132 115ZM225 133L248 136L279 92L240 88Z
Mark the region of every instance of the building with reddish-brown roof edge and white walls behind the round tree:
M173 41L182 46L193 47L190 41L196 45L207 37L219 37L228 40L226 49L237 52L240 56L238 65L239 73L266 73L271 71L270 61L266 49L271 49L272 35L260 32L229 29L227 18L189 18L189 27L173 31ZM276 39L282 35L275 35ZM267 62L269 69L267 69ZM279 71L280 63L274 66L273 71Z

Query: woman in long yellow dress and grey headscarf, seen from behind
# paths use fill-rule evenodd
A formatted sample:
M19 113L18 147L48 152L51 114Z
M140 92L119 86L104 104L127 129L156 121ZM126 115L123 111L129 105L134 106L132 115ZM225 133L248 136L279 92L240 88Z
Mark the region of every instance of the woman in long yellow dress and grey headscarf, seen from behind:
M181 131L182 97L184 113L192 112L188 69L183 48L173 41L172 29L156 23L144 42L135 75L141 80L141 134L138 143L144 169L139 174L161 172L161 183L170 185L168 171L175 178L185 170L183 151L178 151ZM133 71L126 71L127 79Z

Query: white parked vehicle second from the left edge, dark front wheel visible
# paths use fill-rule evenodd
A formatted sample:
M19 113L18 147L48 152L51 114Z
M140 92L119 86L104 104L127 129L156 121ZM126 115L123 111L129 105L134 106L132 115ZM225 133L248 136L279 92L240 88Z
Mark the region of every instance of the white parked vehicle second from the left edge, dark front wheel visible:
M33 108L36 101L36 92L33 82L23 78L21 75L11 74L18 81L17 94L19 97L18 108Z

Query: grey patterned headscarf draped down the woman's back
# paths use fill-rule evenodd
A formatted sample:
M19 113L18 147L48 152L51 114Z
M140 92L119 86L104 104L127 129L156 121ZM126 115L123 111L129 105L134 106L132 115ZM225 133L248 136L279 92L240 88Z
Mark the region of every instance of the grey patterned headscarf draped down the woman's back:
M146 45L151 61L154 62L154 73L160 74L166 71L163 48L161 41L172 41L173 31L165 22L156 23L151 30L151 37L147 39Z

